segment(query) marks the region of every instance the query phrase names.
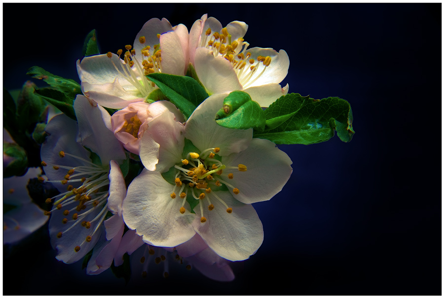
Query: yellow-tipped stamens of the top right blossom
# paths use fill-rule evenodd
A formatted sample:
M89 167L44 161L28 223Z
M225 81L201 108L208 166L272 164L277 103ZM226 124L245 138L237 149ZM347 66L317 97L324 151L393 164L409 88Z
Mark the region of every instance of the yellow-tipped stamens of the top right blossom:
M201 47L212 51L215 57L221 54L228 60L245 89L253 84L271 63L270 56L258 56L253 59L252 54L246 52L248 45L249 43L244 41L244 38L238 38L231 42L231 35L225 27L220 33L215 32L213 35L211 29L208 28L205 32L205 39L202 39Z

